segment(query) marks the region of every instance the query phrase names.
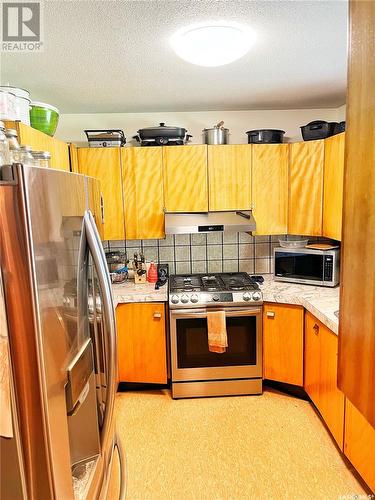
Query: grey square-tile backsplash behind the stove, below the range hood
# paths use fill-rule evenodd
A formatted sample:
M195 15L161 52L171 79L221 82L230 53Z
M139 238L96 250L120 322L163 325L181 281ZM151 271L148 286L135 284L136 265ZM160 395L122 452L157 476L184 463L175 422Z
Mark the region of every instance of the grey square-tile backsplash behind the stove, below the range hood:
M126 251L132 259L142 251L146 261L168 263L170 274L245 271L273 272L273 249L285 236L247 233L167 235L162 240L105 241L105 250Z

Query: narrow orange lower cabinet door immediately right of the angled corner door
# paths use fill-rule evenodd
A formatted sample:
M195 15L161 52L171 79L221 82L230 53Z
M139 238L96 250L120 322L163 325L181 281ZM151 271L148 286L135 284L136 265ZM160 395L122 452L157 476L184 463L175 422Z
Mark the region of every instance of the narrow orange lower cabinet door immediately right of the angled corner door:
M305 373L304 388L317 407L320 384L319 322L310 313L305 314Z

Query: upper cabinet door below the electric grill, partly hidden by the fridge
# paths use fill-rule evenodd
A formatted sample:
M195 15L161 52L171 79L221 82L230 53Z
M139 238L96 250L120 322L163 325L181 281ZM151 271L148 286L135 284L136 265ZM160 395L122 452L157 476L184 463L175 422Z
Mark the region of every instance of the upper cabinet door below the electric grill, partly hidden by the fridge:
M80 148L78 167L81 174L100 181L104 203L104 239L123 240L125 232L120 148Z

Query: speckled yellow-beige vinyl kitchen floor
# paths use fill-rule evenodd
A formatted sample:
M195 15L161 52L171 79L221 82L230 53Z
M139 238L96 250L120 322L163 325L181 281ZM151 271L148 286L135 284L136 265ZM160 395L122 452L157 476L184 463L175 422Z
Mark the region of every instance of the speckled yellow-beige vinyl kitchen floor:
M119 393L116 421L127 500L367 498L311 404L274 390Z

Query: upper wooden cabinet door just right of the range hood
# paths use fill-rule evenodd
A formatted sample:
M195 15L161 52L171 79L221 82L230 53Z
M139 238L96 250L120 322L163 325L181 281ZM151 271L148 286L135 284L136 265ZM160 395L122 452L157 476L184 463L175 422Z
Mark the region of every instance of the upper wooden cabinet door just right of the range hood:
M289 144L253 144L252 150L255 234L286 234Z

